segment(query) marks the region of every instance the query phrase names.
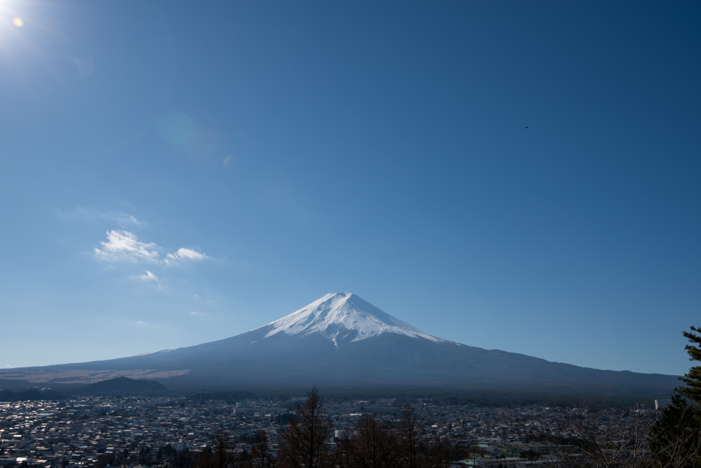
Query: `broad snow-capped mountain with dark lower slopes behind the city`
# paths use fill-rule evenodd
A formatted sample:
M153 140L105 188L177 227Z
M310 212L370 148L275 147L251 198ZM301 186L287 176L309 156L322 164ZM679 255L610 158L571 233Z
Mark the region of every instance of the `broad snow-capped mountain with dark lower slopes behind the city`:
M351 293L327 294L258 329L202 345L107 361L6 369L0 378L95 383L148 378L181 392L442 390L667 398L676 376L599 371L484 350L416 329Z

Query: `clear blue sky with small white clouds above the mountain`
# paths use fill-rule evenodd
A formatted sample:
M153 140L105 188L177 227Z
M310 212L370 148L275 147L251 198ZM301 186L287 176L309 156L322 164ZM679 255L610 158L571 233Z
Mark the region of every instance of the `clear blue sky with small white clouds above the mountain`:
M0 366L353 291L468 345L686 372L700 10L1 1Z

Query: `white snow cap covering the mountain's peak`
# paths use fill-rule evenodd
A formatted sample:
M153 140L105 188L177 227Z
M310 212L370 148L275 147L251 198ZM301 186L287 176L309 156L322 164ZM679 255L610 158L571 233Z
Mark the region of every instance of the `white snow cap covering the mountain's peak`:
M277 333L301 336L321 333L336 346L338 340L343 338L359 341L382 333L399 333L447 343L447 340L402 322L350 292L327 294L297 312L267 324L266 327L272 329L265 338Z

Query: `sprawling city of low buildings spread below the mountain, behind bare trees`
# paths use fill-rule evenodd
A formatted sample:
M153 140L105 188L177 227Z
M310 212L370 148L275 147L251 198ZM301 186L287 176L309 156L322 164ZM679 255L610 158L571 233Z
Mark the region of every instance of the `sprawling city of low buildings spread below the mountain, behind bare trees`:
M148 397L83 397L67 401L0 403L0 468L102 468L104 454L119 464L158 466L169 454L196 455L212 443L219 430L231 434L240 450L250 448L264 429L271 450L278 450L279 430L299 399L287 401L193 401ZM328 401L325 412L334 426L334 443L364 414L372 413L383 427L400 424L394 401ZM455 453L474 456L455 460L463 466L523 467L524 452L552 453L554 444L569 450L570 436L562 408L475 408L416 401L416 425L425 441L442 440ZM623 418L611 412L608 418ZM479 453L479 456L477 456Z

